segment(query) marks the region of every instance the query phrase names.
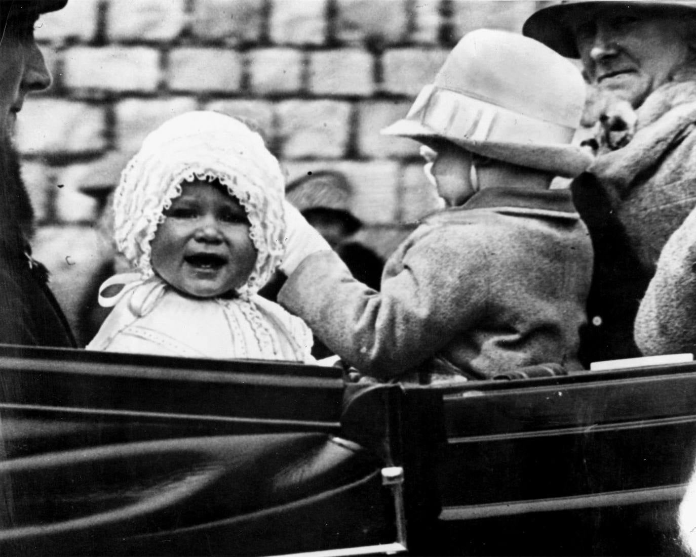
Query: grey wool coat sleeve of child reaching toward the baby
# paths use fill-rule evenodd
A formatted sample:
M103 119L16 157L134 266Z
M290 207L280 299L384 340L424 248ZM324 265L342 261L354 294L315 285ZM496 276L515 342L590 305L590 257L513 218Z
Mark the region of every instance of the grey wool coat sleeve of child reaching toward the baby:
M476 320L486 298L486 254L471 227L417 230L386 266L379 292L333 252L311 255L278 301L363 373L390 378L416 368Z

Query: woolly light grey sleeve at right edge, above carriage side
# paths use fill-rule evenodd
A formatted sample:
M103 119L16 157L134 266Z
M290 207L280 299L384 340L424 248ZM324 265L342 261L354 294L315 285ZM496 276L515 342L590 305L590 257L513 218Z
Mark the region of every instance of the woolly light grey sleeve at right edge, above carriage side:
M635 319L645 355L696 355L696 209L672 234Z

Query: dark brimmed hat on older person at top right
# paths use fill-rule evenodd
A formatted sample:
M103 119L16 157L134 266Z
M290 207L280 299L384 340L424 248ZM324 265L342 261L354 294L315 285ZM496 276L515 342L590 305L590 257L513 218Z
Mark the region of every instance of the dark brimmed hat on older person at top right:
M590 17L597 9L629 8L640 10L641 13L654 15L691 15L696 18L695 1L586 1L570 0L546 6L528 17L522 27L526 37L543 42L547 47L568 58L580 58L569 22Z

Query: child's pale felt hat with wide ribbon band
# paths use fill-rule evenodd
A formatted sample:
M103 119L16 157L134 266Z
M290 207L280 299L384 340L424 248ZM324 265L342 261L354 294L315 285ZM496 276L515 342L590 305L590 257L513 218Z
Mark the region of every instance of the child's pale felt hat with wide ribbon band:
M536 40L478 29L450 52L406 118L382 134L464 149L574 177L592 157L570 145L585 105L580 70Z

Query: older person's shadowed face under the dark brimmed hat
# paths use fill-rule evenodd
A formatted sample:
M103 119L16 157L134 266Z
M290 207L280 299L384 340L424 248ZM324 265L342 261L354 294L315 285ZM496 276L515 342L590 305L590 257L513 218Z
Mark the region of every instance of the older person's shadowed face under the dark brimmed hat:
M686 63L693 25L692 18L629 8L599 9L572 24L590 83L634 108Z

